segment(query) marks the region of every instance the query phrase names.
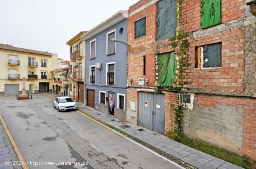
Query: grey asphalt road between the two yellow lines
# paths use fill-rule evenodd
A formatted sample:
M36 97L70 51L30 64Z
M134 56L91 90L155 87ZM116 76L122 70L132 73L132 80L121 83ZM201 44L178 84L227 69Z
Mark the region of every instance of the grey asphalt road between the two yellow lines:
M30 169L179 169L45 94L0 97L0 114Z

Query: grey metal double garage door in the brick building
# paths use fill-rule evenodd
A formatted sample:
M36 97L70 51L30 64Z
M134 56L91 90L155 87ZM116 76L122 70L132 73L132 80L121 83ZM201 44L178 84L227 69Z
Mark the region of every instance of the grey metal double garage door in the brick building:
M139 125L164 134L164 94L139 92Z

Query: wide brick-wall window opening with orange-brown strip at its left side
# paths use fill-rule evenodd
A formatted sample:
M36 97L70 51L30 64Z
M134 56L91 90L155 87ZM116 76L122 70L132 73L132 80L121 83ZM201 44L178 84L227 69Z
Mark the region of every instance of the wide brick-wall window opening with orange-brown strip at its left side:
M207 44L195 48L195 69L222 67L222 43Z

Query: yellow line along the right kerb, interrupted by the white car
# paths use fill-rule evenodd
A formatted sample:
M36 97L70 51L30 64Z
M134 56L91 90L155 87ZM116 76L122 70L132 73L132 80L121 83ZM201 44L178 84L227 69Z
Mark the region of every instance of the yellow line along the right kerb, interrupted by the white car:
M49 95L49 94L47 94L47 95L50 96L51 98L55 99L55 98L52 97L51 95ZM169 160L168 158L166 158L166 157L164 157L164 156L161 156L160 154L158 154L158 153L156 153L155 151L153 151L153 150L151 150L151 149L145 147L144 145L141 145L141 144L137 143L137 142L134 141L133 139L126 137L125 135L121 134L120 132L115 131L114 129L108 127L107 125L104 125L104 124L102 124L101 122L99 122L99 121L97 121L97 120L95 120L95 119L89 117L88 115L86 115L86 114L84 114L84 113L81 113L79 110L76 110L76 112L78 112L78 113L80 113L81 115L87 117L88 119L91 119L91 120L93 120L94 122L96 122L96 123L98 123L98 124L100 124L100 125L102 125L102 126L108 128L109 130L114 131L115 133L118 133L120 136L122 136L122 137L124 137L124 138L130 140L131 142L133 142L133 143L139 145L140 147L142 147L142 148L148 150L149 152L155 154L156 156L159 156L160 158L162 158L162 159L168 161L169 163L172 163L172 164L174 164L175 166L177 166L177 167L179 167L179 168L181 168L181 169L185 169L184 167L182 167L182 166L180 166L179 164L177 164L177 163L175 163L175 162Z

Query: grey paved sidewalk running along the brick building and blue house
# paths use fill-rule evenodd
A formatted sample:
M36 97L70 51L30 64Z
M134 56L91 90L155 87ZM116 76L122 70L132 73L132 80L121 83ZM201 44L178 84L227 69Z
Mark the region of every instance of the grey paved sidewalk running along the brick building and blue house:
M155 147L158 150L161 150L162 152L164 152L164 154L167 153L168 155L171 155L176 159L181 160L182 162L190 164L195 168L243 169L242 167L226 162L220 158L211 156L199 150L195 150L187 145L168 139L165 136L155 133L153 131L149 131L148 129L142 128L141 126L121 122L120 120L115 119L107 114L100 113L91 108L85 107L82 104L79 104L79 110L95 119L99 119L101 122L115 127L120 131L128 133L132 137L137 138L142 142ZM130 127L123 129L121 127L122 125L128 125ZM139 129L143 129L143 131L138 131ZM161 151L159 151L159 153L161 153Z

